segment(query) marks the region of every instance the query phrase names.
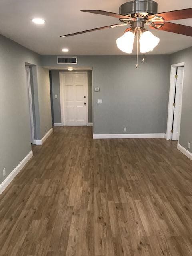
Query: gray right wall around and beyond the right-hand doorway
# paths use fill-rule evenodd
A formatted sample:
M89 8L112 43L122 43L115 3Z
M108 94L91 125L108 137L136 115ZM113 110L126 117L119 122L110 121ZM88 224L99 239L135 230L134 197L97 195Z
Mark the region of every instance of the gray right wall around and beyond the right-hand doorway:
M185 62L185 68L179 144L192 153L192 47L170 56L170 65L181 62Z

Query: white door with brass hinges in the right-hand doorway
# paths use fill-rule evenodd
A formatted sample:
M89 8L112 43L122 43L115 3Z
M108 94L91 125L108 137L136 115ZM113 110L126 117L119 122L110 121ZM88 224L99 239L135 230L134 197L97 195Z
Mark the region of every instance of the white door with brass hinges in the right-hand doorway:
M178 140L179 139L179 133L180 133L183 70L184 70L184 67L178 67L177 68L177 81L176 81L176 89L175 89L175 108L174 108L172 140Z

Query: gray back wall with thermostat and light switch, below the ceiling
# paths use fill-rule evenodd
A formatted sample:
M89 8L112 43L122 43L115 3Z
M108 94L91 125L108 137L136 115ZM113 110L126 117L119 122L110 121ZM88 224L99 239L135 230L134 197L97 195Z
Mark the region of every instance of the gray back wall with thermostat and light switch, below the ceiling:
M93 88L100 87L93 91L94 134L121 134L124 127L126 133L166 133L169 56L146 56L145 64L139 56L139 62L136 69L136 56L78 56L77 67L92 68ZM42 56L42 65L66 68L56 56ZM55 110L60 120L60 107Z

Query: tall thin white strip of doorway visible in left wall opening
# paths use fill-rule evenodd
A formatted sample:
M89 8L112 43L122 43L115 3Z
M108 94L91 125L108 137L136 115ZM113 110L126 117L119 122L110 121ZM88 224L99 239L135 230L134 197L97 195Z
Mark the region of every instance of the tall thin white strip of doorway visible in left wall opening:
M30 82L30 67L25 67L26 72L26 86L27 86L27 92L28 92L28 110L29 110L29 116L30 116L30 132L31 132L31 144L35 143L34 138L34 119L33 119L33 106L32 106L32 91L31 91L31 82Z

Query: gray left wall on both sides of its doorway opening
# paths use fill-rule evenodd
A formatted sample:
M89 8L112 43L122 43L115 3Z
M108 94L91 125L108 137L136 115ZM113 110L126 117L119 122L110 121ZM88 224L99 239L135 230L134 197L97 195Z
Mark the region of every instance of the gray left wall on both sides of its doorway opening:
M25 65L33 64L36 104L36 136L52 127L49 72L41 67L40 56L0 35L0 183L31 151L30 116ZM46 96L45 96L46 94ZM37 98L38 97L38 98ZM6 176L2 170L6 168Z

